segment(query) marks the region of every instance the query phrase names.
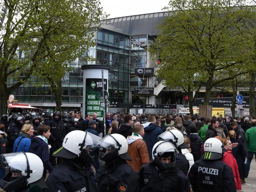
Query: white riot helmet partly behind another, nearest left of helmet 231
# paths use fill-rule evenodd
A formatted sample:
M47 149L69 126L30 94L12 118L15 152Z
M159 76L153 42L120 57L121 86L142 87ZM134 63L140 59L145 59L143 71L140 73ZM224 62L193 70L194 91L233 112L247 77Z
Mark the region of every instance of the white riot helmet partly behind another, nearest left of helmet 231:
M165 141L170 141L176 147L188 148L187 144L184 143L184 136L179 130L176 130L176 129L166 130L163 133L159 134L158 138Z

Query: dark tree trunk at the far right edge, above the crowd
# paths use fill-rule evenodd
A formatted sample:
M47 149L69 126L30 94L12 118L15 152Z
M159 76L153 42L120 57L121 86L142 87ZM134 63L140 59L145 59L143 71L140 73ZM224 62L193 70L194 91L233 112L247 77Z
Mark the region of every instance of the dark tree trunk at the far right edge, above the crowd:
M256 73L250 73L250 87L249 87L249 113L250 116L255 116L255 80Z

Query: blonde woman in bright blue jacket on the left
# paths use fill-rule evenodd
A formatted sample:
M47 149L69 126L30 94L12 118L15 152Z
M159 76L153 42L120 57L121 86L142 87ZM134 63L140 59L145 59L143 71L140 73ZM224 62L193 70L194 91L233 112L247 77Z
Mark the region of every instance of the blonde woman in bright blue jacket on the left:
M30 123L25 123L16 138L12 151L13 152L28 152L31 144L31 136L33 136L34 128Z

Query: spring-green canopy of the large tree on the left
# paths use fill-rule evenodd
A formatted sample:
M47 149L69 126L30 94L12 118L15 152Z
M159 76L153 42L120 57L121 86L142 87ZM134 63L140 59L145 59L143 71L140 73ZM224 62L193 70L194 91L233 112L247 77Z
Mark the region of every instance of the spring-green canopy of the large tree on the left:
M99 0L1 0L0 10L0 113L6 112L8 94L32 74L85 52L91 27L105 16ZM15 82L7 86L10 76Z

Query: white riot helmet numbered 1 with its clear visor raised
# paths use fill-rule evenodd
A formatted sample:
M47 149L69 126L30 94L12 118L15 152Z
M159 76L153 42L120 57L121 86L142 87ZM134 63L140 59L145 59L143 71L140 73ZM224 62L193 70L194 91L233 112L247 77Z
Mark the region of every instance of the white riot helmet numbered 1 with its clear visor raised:
M90 132L73 130L65 135L62 146L53 155L72 159L79 156L83 148L96 148L100 140L99 136Z

